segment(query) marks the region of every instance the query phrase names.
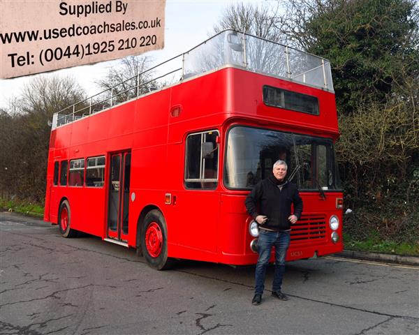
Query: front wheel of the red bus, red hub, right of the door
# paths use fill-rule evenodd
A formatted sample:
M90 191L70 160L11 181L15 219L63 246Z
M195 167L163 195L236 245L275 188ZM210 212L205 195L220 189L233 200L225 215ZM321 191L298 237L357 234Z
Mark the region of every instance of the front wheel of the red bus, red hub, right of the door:
M157 270L168 269L168 233L161 211L153 209L144 218L141 229L141 249L147 264Z

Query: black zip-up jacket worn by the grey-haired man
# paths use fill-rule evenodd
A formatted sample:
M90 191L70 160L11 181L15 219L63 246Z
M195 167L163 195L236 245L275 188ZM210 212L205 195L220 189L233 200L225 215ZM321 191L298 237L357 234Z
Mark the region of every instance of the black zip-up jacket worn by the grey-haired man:
M288 230L291 229L291 222L288 220L291 215L291 204L294 204L293 214L300 219L302 200L297 186L286 182L280 190L278 184L279 181L273 175L259 181L246 198L246 208L253 218L258 215L267 216L263 227Z

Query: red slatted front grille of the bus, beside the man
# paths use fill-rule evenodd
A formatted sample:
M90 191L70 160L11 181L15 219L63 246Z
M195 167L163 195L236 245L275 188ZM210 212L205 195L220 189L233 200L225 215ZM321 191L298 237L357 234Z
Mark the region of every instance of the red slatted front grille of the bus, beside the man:
M326 216L324 214L302 214L291 226L291 241L324 241L326 239Z

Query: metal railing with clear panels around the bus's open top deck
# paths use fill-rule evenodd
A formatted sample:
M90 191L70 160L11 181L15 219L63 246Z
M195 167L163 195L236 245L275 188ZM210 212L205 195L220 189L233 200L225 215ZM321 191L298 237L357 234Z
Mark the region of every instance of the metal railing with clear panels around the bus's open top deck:
M333 91L330 61L264 38L225 30L188 52L60 110L54 114L52 128L226 66Z

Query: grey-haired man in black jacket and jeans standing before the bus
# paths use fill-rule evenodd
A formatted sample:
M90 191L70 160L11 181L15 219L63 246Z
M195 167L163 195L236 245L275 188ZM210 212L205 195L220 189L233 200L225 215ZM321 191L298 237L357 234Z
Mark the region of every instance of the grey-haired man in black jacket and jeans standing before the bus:
M302 213L302 200L297 186L285 181L287 169L285 161L276 161L272 168L273 175L259 181L246 198L247 211L259 226L259 257L256 264L255 295L251 301L253 305L262 302L266 267L272 246L275 247L272 296L288 300L288 297L281 292L285 256L290 245L291 224L296 223ZM294 204L293 214L291 214L291 203Z

